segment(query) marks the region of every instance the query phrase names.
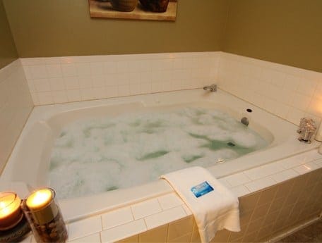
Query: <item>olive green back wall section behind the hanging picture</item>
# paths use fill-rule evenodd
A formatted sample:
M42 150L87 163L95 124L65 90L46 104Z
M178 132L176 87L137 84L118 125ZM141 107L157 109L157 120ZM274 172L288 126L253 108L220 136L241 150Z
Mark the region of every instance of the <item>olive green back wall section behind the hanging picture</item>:
M179 0L177 20L90 18L88 0L4 0L20 57L219 51L229 1Z

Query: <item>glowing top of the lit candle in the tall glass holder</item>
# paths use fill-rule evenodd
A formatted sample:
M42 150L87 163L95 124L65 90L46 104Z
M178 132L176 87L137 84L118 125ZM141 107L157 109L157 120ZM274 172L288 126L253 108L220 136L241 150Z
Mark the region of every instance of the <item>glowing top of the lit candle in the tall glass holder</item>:
M40 189L32 192L28 197L26 204L30 211L39 210L46 207L52 201L52 191L49 189Z

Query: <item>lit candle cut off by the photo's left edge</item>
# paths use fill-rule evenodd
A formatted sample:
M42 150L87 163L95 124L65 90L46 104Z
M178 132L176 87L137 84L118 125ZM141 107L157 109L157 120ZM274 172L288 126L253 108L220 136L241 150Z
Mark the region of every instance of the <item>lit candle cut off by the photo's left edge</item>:
M20 202L14 192L0 193L0 230L8 230L19 223L23 216Z

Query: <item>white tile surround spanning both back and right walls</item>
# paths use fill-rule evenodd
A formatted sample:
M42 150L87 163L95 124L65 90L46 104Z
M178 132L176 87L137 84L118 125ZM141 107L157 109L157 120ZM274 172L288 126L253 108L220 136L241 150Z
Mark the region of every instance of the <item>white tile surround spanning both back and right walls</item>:
M35 105L220 89L292 123L322 117L322 73L221 51L21 58Z

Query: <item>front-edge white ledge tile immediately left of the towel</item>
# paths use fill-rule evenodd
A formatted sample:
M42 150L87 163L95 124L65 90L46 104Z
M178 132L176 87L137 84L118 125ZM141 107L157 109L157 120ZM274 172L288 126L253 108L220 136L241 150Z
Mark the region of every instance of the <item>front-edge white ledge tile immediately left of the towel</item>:
M184 208L182 208L182 206L177 206L160 213L155 213L144 219L148 229L150 230L156 228L157 226L165 225L166 223L170 223L174 220L178 220L184 217L186 217L186 211L184 211Z

